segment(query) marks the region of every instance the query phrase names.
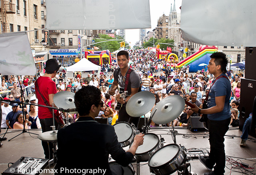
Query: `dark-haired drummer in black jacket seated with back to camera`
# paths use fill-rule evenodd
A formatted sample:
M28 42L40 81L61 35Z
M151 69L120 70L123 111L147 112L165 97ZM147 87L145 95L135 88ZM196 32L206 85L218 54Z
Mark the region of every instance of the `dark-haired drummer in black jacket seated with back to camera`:
M71 174L76 169L82 174L86 169L93 169L93 174L121 175L121 166L109 167L109 154L124 167L131 163L138 146L143 144L144 134L136 135L131 148L125 152L118 143L114 127L94 120L103 104L101 92L96 87L89 85L76 92L75 105L80 117L58 130L58 173ZM67 152L67 148L74 150Z

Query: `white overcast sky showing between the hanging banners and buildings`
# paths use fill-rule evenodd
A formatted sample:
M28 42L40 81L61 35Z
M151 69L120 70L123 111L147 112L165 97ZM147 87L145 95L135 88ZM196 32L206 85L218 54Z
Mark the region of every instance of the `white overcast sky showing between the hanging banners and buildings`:
M149 0L150 3L150 17L151 28L147 28L146 32L152 31L157 26L157 20L163 14L169 15L171 10L171 4L173 8L174 0ZM182 0L175 0L175 6L177 13L180 13L180 6ZM134 45L135 42L140 40L140 29L126 29L125 41Z

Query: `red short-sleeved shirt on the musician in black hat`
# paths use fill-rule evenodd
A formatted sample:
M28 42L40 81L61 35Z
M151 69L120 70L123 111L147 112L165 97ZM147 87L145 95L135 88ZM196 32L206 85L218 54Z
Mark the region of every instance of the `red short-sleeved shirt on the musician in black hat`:
M38 83L39 90L44 98L47 100L49 104L49 94L57 93L55 82L52 81L51 78L47 76L40 76L36 82ZM40 93L38 92L37 88L35 87L35 94L38 98L38 104L46 106L44 100L42 99ZM52 106L52 104L50 104ZM51 109L52 111L52 109ZM57 110L54 110L54 113L57 113ZM38 107L38 118L39 119L48 119L52 118L52 112L50 112L49 108L47 107Z

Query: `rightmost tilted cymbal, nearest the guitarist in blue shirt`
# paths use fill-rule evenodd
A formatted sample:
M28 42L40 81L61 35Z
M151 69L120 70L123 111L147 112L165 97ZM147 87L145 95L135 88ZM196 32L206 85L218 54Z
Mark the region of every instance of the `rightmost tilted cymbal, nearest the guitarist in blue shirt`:
M185 101L181 96L168 96L158 102L152 113L157 109L152 121L155 124L167 124L176 119L185 107Z

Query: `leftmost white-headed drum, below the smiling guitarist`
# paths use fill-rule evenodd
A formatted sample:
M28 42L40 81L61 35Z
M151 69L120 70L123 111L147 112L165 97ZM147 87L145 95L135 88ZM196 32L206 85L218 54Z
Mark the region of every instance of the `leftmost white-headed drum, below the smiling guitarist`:
M127 122L118 122L113 127L115 128L117 140L121 144L121 147L130 145L136 135L135 128Z

